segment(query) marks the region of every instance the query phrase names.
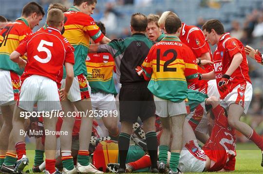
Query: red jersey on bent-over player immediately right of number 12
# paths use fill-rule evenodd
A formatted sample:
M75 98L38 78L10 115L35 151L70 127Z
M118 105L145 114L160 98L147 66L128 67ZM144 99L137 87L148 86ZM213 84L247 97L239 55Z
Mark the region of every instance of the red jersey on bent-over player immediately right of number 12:
M200 58L200 56L204 53L209 53L212 58L211 50L209 48L209 44L206 41L206 37L202 30L196 26L188 26L185 23L182 24L181 34L179 39L191 48L194 53L195 58ZM205 65L205 69L202 69L198 66L198 73L205 74L212 71L211 65ZM199 80L195 83L192 83L188 86L189 89L196 90L207 83L207 80Z

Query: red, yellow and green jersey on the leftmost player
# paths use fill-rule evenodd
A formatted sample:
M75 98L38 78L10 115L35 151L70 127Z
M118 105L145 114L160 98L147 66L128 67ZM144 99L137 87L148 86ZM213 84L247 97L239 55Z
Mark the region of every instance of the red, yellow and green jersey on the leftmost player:
M0 69L13 71L19 75L23 73L23 70L17 63L11 61L9 56L30 33L32 31L25 19L17 19L3 28L0 33Z

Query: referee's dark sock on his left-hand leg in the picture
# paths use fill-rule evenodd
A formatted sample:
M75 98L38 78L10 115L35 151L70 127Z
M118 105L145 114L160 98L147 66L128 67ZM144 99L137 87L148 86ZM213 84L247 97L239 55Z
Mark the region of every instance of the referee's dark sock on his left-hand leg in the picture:
M126 133L120 133L118 147L119 147L119 159L120 159L120 168L126 169L126 157L128 149L130 146L130 136Z

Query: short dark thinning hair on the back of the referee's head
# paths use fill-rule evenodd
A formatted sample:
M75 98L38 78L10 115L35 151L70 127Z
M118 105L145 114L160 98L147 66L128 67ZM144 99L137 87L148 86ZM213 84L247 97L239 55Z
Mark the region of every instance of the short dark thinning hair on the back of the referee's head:
M148 26L147 17L142 13L134 13L131 15L131 27L134 31L143 32L146 31Z

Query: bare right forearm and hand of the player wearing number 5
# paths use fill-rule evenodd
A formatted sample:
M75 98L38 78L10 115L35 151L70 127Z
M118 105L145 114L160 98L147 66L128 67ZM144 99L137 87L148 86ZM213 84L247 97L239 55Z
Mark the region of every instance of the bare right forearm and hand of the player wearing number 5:
M61 101L65 100L68 97L68 93L69 93L70 87L74 79L73 64L65 62L65 67L66 67L66 74L67 74L65 88L59 90Z

